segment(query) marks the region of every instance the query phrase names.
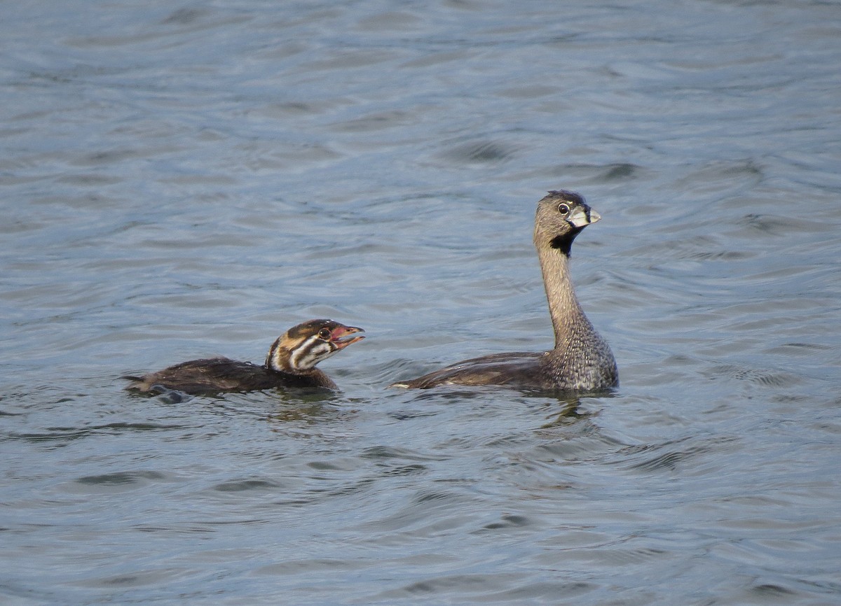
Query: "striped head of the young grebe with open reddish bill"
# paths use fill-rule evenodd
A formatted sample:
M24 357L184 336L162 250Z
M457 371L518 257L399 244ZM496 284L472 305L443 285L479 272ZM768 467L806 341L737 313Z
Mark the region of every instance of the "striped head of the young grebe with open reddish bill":
M361 341L362 328L346 327L332 320L310 320L290 328L272 344L266 365L272 370L300 374L351 343Z

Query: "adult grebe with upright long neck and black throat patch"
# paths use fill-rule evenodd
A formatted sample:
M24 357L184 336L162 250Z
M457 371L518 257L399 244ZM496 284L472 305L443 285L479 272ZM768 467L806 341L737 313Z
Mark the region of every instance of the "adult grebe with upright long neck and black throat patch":
M569 276L569 251L575 236L600 218L573 191L550 191L537 202L534 245L555 329L552 350L473 358L392 386L426 389L437 385L509 385L595 392L619 384L611 347L584 316Z

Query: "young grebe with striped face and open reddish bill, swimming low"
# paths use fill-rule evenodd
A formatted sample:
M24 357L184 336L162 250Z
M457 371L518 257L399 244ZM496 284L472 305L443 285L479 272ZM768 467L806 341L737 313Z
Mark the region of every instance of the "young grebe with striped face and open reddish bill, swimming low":
M351 343L362 328L346 327L332 320L309 320L290 328L272 343L266 363L237 362L229 358L191 360L142 377L125 389L157 393L161 388L177 389L187 394L218 394L225 391L255 391L274 387L324 387L336 384L317 363L330 358Z

